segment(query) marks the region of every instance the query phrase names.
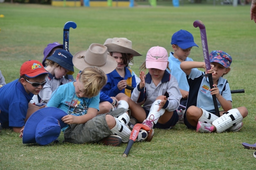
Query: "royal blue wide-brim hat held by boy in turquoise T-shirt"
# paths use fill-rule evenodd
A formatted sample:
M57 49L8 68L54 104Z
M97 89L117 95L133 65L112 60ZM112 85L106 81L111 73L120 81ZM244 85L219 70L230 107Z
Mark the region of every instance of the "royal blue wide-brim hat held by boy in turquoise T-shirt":
M55 141L67 124L61 118L67 115L63 110L56 107L44 107L34 112L23 130L23 144L47 145Z

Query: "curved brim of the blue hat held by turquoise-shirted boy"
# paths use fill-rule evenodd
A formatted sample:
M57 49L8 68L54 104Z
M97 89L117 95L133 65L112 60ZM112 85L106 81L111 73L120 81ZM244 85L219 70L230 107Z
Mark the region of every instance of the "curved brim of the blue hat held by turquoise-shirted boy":
M37 124L46 117L58 119L60 127L64 128L67 124L62 122L61 118L65 115L67 115L67 113L57 107L44 107L34 112L25 123L22 137L23 144L36 143L35 133Z

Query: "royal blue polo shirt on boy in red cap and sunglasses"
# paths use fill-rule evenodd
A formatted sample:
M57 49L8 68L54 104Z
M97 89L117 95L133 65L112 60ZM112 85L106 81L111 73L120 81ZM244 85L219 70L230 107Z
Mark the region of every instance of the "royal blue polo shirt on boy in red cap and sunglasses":
M25 91L18 79L0 88L0 123L3 128L25 125L24 120L33 95Z

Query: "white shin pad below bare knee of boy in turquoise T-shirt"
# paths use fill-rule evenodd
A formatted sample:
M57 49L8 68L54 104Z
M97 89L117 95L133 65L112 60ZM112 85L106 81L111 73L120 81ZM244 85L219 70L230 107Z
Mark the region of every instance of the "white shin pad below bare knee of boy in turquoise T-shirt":
M121 123L117 118L115 118L115 122L115 127L111 129L111 132L117 136L120 136L124 143L128 142L131 135L131 130Z

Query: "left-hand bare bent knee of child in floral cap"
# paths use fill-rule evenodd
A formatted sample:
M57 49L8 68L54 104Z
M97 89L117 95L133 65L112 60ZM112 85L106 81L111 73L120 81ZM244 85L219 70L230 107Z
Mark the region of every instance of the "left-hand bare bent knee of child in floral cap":
M186 118L192 126L196 127L198 120L202 116L202 114L203 114L203 111L201 110L201 108L196 106L190 106L187 109Z

